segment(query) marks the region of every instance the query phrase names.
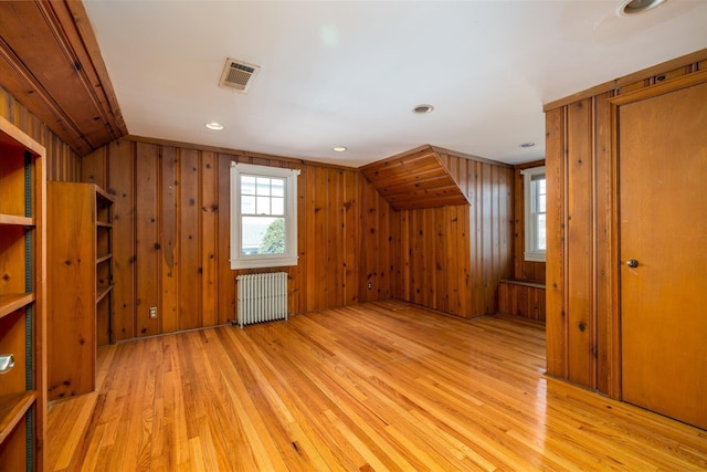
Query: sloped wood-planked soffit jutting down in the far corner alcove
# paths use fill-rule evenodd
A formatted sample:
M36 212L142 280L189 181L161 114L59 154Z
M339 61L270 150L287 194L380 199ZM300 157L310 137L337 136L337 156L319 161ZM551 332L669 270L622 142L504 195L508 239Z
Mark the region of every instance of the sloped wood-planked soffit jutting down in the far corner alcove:
M468 204L441 154L457 154L425 145L360 168L395 210Z

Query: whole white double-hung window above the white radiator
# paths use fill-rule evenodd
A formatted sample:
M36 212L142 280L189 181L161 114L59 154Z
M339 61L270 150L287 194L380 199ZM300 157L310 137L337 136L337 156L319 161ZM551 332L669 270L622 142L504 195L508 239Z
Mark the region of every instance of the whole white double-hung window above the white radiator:
M298 175L231 162L231 269L297 265Z

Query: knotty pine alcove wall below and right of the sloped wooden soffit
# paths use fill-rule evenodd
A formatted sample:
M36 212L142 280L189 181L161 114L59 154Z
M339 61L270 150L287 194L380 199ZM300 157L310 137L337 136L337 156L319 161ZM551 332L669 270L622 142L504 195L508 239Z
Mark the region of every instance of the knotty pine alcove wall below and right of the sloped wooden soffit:
M393 296L464 317L496 313L511 273L513 168L442 151L471 206L395 211Z

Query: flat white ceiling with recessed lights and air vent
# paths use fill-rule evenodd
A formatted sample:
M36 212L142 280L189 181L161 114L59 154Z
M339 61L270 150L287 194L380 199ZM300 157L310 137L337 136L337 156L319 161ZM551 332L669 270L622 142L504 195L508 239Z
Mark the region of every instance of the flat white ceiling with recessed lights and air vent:
M84 0L131 135L354 167L542 158L542 104L707 48L707 1L619 3ZM247 94L218 86L226 57L262 66Z

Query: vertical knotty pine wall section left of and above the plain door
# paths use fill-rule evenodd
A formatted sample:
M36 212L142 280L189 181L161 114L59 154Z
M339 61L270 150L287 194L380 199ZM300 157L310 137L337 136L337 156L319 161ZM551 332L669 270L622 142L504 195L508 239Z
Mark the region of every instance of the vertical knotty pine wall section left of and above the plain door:
M548 178L548 373L620 397L611 359L619 339L609 332L616 313L610 293L612 209L609 99L707 67L707 50L673 60L546 105Z

